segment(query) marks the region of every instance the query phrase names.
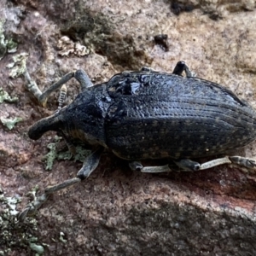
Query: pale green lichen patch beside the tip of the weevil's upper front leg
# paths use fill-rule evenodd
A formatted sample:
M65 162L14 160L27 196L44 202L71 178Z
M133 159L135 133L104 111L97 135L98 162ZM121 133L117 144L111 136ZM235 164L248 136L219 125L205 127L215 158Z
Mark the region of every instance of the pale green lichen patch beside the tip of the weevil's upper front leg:
M28 54L26 52L22 52L19 55L13 56L13 62L9 63L6 67L11 69L9 73L9 77L15 79L19 77L21 74L26 72L26 59Z

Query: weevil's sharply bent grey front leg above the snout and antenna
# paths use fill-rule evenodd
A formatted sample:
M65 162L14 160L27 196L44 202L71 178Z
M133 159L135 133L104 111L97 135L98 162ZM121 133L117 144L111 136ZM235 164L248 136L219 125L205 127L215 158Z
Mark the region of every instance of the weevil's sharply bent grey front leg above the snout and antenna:
M84 70L81 70L81 69L77 70L76 72L67 73L55 84L52 84L48 89L44 90L44 92L41 92L41 90L39 90L38 85L34 80L31 79L27 71L25 71L24 77L27 81L27 85L26 85L27 90L31 91L32 94L38 99L38 102L40 102L44 107L46 105L49 95L54 90L57 90L58 88L60 88L61 85L66 84L67 81L69 81L72 78L77 79L79 81L82 91L93 85L87 73L85 73Z

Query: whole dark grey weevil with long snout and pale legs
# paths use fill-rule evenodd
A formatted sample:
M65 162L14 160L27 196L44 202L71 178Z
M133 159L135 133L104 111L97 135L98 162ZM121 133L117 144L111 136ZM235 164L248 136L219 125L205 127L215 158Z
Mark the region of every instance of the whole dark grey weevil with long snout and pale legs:
M181 75L183 71L186 77ZM93 153L84 161L77 177L45 189L44 195L20 213L21 219L35 212L51 193L89 177L104 148L141 172L170 171L169 165L143 167L139 162L148 159L172 160L181 171L203 170L224 163L256 166L254 160L240 156L226 156L204 164L190 160L226 154L253 142L256 113L232 91L193 77L183 61L177 63L173 73L143 68L116 74L108 82L94 86L87 74L79 70L68 73L44 93L28 73L25 76L29 90L43 105L53 90L73 77L82 88L70 105L32 125L29 137L38 140L46 131L57 131L69 145L90 145Z

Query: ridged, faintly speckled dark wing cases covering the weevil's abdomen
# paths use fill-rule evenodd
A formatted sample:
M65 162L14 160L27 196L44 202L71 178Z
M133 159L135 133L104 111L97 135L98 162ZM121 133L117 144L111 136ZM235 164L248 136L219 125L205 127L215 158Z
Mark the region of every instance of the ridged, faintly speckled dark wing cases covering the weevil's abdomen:
M116 98L105 122L114 154L128 160L202 157L254 140L256 113L250 106L218 84L185 81L190 83L159 84L155 94L141 87L137 96Z

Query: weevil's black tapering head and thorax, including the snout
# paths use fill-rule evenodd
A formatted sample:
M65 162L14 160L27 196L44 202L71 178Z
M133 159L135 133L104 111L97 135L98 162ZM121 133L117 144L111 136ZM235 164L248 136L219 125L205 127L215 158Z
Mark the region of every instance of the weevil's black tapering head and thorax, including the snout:
M104 116L109 103L102 100L103 86L93 89L80 93L70 105L32 125L28 136L38 140L47 131L57 131L69 142L104 144Z

